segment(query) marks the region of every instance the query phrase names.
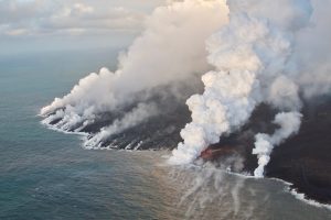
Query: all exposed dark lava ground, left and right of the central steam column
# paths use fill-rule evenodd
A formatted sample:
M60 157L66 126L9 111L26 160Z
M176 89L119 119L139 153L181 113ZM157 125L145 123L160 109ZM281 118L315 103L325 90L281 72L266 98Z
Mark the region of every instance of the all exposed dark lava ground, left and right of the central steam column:
M167 100L166 103L169 101L171 100ZM181 128L190 121L190 112L181 102L171 106L164 105L163 100L158 102L163 103L163 111L159 116L109 136L100 147L114 145L115 148L127 150L174 148L181 141ZM213 160L223 163L231 161L226 158L228 155L235 155L243 163L242 166L236 165L238 170L253 174L257 167L256 155L252 154L254 135L259 132L273 133L277 127L271 121L277 112L268 105L260 105L239 131L210 146L212 150L226 147L226 151L223 151L226 154L218 154L218 158ZM319 97L305 103L302 113L299 133L274 148L265 175L291 183L292 188L303 193L309 199L331 204L331 98ZM93 136L113 121L114 116L100 116L82 132ZM50 125L56 123L57 121L51 121ZM231 163L237 163L236 158Z

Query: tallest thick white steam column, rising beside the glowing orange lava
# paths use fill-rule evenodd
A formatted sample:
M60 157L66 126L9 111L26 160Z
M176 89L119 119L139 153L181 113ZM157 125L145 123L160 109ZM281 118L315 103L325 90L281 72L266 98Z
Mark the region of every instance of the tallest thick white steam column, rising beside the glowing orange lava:
M286 13L273 13L274 4L281 6ZM309 21L309 1L231 0L228 7L228 24L207 41L209 62L216 70L202 77L204 92L186 101L192 122L181 131L184 142L173 151L171 163L195 160L222 135L239 129L260 102L290 110L301 106L290 69L295 64L289 61L293 55L295 34ZM287 128L276 133L282 134L282 129ZM265 157L259 156L264 165Z

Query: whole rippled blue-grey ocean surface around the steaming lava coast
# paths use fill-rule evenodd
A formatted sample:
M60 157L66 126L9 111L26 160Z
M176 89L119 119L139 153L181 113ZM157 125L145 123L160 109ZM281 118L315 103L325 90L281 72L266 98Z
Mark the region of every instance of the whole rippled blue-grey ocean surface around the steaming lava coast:
M119 48L0 57L0 219L327 220L275 179L172 167L169 152L88 151L43 127L41 107L115 68Z

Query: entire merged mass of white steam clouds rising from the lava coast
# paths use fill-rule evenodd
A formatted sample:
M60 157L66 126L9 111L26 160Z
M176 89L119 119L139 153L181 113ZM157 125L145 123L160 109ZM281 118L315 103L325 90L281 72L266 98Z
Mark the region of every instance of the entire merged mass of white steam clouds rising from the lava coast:
M88 148L161 113L169 123L158 135L171 133L183 118L172 116L182 109L174 106L199 92L196 76L206 73L204 91L186 100L192 121L170 163L193 162L267 103L279 112L278 129L255 136L260 177L274 146L299 131L303 99L330 94L330 0L184 0L157 8L118 69L81 79L41 110L43 122L64 131L89 128Z

